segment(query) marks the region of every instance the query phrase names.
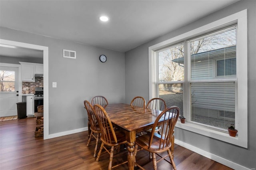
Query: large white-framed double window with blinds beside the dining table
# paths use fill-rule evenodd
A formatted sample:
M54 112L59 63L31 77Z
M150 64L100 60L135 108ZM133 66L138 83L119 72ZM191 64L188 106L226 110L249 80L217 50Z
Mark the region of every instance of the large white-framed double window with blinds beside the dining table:
M180 108L186 123L177 127L247 147L247 45L242 43L247 26L242 18L236 14L149 47L150 97ZM238 130L235 138L228 136L230 124Z

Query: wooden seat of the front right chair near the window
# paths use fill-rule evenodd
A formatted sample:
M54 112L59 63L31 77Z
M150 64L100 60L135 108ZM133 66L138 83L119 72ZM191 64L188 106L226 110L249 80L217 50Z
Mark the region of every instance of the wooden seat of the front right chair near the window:
M144 150L147 150L148 152L154 152L154 153L163 152L163 151L168 150L168 148L170 148L171 144L169 146L165 146L165 147L162 148L162 145L163 145L163 140L162 140L161 149L159 149L159 145L160 145L161 140L159 140L160 135L158 135L158 134L154 135L151 147L148 148L149 138L150 138L150 134L148 134L148 133L144 134L144 135L141 135L141 136L138 136L136 138L135 143L138 144L140 147L142 147Z

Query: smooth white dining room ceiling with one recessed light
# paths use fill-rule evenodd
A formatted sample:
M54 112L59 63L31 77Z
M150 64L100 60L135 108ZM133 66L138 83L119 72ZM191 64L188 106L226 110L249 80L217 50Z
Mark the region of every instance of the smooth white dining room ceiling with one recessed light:
M0 26L125 52L237 1L0 0Z

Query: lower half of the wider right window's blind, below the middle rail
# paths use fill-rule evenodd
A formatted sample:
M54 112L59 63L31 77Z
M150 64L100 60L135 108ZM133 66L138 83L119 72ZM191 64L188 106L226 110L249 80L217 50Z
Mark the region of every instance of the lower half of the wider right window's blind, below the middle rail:
M191 83L191 121L226 130L235 122L235 83Z

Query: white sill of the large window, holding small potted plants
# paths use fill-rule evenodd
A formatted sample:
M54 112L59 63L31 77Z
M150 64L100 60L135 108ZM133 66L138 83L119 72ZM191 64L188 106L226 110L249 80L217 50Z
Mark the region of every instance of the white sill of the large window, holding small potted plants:
M189 122L187 120L186 120L186 123L180 123L180 121L178 121L175 127L182 128L184 130L188 130L194 133L208 136L210 138L215 138L224 142L228 142L237 146L247 148L247 141L239 138L239 136L232 137L232 136L229 136L228 132L221 132L218 130L214 130L212 128L207 128L202 125Z

